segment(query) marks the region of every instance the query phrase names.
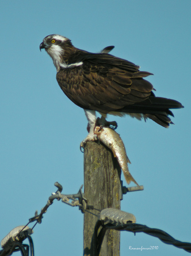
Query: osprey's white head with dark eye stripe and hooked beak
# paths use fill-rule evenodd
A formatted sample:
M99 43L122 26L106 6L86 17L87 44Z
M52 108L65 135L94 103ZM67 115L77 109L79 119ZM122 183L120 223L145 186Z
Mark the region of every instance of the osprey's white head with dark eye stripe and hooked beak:
M41 49L46 50L52 58L57 71L60 68L60 64L67 61L69 50L72 50L72 48L72 43L68 38L56 34L46 36L40 44L40 51Z

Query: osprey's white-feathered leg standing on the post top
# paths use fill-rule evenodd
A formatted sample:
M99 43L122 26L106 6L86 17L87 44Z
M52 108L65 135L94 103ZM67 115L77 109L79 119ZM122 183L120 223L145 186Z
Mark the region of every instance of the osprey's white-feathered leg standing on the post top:
M80 150L84 148L87 141L95 141L97 140L97 135L94 134L95 124L96 124L96 114L94 110L84 110L86 114L86 118L88 119L88 136L80 143Z

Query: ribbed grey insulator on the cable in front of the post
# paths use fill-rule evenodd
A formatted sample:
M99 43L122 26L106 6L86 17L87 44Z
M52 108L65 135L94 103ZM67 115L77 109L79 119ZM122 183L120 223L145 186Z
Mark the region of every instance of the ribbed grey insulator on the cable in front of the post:
M126 224L127 221L136 223L136 217L133 214L115 208L103 209L98 215L98 219L115 225Z

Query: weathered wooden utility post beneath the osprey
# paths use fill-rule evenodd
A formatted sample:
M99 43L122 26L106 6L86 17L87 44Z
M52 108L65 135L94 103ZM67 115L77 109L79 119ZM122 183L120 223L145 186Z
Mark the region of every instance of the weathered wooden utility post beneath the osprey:
M103 144L88 142L84 148L84 192L87 204L99 210L105 208L120 209L121 169L110 149ZM91 210L99 214L96 210ZM91 239L97 217L84 214L84 255L93 256ZM106 231L100 256L120 255L120 232Z

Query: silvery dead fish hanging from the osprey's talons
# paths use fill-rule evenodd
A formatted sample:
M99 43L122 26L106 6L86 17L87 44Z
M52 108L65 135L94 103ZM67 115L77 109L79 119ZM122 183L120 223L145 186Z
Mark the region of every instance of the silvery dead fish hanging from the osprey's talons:
M114 154L114 157L117 158L117 161L123 171L127 184L133 181L137 186L139 186L139 184L135 181L135 179L132 177L131 173L129 172L128 163L131 163L131 162L128 159L128 156L125 150L125 145L122 139L120 138L119 134L110 127L99 127L99 126L95 127L94 134L97 135L98 139L105 146L111 149L111 151Z

